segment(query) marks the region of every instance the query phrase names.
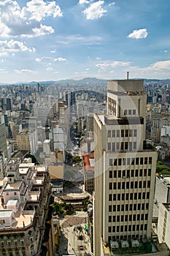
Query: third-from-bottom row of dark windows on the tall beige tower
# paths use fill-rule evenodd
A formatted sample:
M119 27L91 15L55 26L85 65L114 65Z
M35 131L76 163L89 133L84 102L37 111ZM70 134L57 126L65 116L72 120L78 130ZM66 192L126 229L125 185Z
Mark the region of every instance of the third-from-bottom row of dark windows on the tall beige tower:
M140 210L148 210L149 203L130 203L124 205L117 206L109 206L109 212L112 211L140 211Z

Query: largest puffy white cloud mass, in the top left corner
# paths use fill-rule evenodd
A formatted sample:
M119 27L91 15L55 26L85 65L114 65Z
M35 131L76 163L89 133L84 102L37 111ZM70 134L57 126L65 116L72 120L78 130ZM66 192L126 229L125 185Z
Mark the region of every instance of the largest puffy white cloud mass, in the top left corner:
M31 0L20 8L17 1L0 1L0 34L3 37L37 37L54 32L51 26L42 25L45 18L61 17L63 13L55 1Z

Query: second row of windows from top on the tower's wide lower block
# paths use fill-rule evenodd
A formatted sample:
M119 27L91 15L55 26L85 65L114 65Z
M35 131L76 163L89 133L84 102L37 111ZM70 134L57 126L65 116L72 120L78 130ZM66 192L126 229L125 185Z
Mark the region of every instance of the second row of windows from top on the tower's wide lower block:
M109 178L130 178L151 176L151 169L109 170Z

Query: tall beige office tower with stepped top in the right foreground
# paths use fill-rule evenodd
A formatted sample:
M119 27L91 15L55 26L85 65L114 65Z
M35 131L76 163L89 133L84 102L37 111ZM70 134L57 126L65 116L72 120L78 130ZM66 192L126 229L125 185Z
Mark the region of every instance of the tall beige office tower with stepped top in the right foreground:
M143 80L109 80L107 115L94 115L94 255L151 237L157 152L145 149L146 105Z

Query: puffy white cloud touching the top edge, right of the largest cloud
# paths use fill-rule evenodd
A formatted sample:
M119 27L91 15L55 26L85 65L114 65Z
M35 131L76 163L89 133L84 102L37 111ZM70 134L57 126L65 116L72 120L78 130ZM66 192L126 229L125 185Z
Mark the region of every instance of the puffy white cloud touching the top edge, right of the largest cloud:
M96 1L93 4L90 4L90 7L86 8L82 13L86 15L88 20L101 18L107 12L107 10L104 10L104 8L101 7L102 4L104 4L104 1Z

